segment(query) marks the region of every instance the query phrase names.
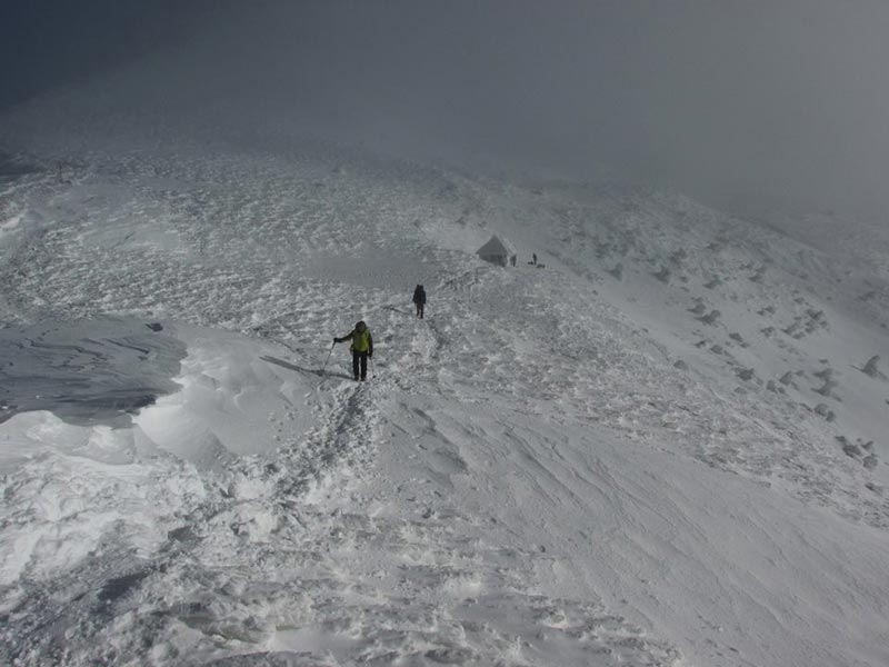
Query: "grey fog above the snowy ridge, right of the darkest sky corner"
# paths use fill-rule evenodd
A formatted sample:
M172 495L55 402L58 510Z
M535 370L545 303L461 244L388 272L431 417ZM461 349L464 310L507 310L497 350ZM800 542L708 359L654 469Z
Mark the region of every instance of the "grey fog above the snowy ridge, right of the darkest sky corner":
M580 177L610 167L727 208L881 219L889 200L883 0L37 4L64 20L4 10L19 44L4 47L7 106L176 39L164 97L253 127ZM69 30L81 4L88 28Z

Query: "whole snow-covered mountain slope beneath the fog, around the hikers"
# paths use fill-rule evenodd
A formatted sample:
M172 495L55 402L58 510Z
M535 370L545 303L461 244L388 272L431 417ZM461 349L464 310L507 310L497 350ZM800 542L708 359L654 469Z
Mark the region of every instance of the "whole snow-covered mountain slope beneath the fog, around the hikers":
M875 265L608 181L43 118L0 123L2 661L889 661Z

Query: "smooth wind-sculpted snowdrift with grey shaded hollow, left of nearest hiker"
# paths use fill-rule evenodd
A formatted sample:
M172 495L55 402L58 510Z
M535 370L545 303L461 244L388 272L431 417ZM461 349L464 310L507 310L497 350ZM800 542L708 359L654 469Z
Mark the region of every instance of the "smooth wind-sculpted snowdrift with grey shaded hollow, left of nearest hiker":
M0 464L157 447L214 468L267 452L303 434L303 396L318 384L268 361L280 354L237 334L121 318L4 329Z

